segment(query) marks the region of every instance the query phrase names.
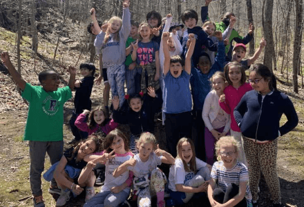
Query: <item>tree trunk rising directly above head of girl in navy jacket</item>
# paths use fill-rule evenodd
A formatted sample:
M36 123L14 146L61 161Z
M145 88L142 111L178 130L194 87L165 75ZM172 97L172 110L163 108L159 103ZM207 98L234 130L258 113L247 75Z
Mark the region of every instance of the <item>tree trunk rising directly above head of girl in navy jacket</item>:
M265 55L263 63L270 70L272 70L272 61L275 57L274 55L274 37L272 36L272 9L274 7L274 0L264 0L263 2L263 14L262 14L262 24L264 37L267 41L267 46L265 47Z

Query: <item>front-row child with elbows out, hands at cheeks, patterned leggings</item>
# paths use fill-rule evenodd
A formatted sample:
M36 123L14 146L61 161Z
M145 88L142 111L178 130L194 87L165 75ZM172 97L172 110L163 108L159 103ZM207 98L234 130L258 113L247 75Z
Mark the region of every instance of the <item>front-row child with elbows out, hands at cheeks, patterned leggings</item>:
M158 207L164 206L164 174L157 168L162 163L173 164L174 158L168 152L161 150L156 139L150 132L144 132L137 141L139 154L124 162L114 172L119 177L126 170L134 173L133 187L137 197L137 206L151 206L151 194L157 195ZM155 150L153 152L153 150Z

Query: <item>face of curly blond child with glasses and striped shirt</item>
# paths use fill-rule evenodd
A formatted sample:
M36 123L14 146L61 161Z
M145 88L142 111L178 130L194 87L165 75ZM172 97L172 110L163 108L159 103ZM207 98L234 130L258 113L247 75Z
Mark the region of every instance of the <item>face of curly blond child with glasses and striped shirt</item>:
M228 152L231 155L227 155ZM232 144L222 144L219 150L220 159L222 160L225 168L231 169L236 165L238 152L236 152L236 147Z

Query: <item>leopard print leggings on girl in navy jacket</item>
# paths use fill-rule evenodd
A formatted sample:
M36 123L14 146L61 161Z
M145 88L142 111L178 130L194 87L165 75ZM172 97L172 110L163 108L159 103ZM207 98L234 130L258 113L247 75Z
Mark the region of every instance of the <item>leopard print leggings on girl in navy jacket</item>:
M280 182L276 173L278 140L275 139L267 143L256 143L251 139L243 137L243 141L248 162L249 186L252 200L258 200L258 184L260 182L260 172L262 172L274 204L281 203Z

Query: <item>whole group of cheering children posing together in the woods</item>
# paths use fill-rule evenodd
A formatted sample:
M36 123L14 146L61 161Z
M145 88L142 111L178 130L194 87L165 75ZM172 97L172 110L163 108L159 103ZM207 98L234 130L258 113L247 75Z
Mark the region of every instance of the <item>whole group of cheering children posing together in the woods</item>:
M207 17L210 2L202 7L202 27L197 26L196 11L183 12L186 30L182 23L171 23L171 14L163 26L155 11L147 14L146 22L131 21L129 0L123 2L122 19L101 23L92 9L88 31L97 34L94 44L102 69L97 83L102 77L108 81L106 106L91 109L96 70L91 63L80 65L81 80L75 80L76 70L69 67L65 88L58 88L55 71L40 72L40 87L26 83L8 53L1 54L30 103L24 139L30 141L34 206L44 206L41 172L46 152L52 167L44 179L50 181L49 192L60 195L56 206L64 206L84 189L86 207L123 205L131 189L137 206L151 206L153 196L157 206L181 205L192 197L211 206L257 206L260 172L274 206L281 205L277 138L297 125L296 111L263 64L254 65L246 83L245 70L266 41L261 39L254 56L243 61L254 27L250 25L243 38L234 30L233 13L213 23ZM232 41L237 42L234 47ZM108 88L113 95L111 118ZM76 93L70 126L75 139L64 150L63 106L72 90ZM153 135L158 112L162 112L167 151L160 149ZM287 122L280 127L283 114ZM120 124L129 125L131 135L118 129ZM171 165L168 179L158 168L162 163ZM95 195L99 176L95 169L100 164L105 166L101 172L105 180ZM166 202L165 191L170 195Z

